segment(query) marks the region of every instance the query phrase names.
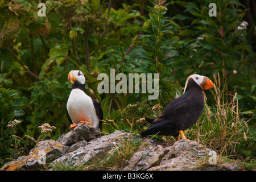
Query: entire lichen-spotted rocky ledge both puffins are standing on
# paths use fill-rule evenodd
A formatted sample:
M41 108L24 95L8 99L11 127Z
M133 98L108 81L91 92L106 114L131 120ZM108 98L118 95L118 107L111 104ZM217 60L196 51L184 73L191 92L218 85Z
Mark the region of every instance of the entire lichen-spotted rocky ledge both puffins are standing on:
M216 152L196 141L179 140L172 145L156 140L139 138L138 135L115 131L101 136L87 124L79 124L59 139L38 142L27 156L6 163L1 170L39 170L48 164L79 166L94 159L101 159L118 150L123 138L137 138L142 144L119 170L125 171L185 171L185 170L236 170L239 167L218 159Z

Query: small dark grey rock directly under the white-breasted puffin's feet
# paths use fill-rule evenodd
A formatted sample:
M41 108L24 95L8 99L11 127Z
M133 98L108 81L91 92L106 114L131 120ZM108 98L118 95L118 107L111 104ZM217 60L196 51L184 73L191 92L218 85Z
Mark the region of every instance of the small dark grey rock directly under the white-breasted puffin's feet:
M79 123L75 129L69 131L66 134L61 135L60 138L57 139L57 142L64 144L65 146L71 146L72 144L85 140L88 142L93 138L97 138L101 136L101 132L94 129L94 127L86 124Z

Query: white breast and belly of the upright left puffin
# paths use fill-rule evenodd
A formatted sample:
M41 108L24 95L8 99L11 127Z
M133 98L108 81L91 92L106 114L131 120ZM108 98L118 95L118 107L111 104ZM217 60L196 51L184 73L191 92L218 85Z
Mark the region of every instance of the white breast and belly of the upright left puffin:
M73 89L67 103L68 114L73 123L89 121L95 129L98 128L98 116L92 98L80 89Z

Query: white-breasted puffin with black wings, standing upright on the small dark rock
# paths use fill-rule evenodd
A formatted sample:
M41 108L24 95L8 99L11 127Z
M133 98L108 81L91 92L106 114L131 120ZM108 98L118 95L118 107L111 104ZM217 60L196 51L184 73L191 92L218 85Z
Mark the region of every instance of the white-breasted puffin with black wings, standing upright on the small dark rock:
M96 130L102 129L103 111L98 101L85 93L85 77L79 70L69 72L68 80L72 83L72 90L67 102L68 120L73 129L77 123L88 123Z

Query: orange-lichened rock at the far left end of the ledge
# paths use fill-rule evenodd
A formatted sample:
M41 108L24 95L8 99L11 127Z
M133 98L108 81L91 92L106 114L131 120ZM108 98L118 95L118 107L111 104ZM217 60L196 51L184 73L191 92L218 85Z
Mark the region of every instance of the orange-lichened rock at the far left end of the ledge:
M44 168L43 164L63 156L68 148L68 146L64 146L55 140L44 140L38 142L29 152L29 155L21 156L16 160L6 163L1 170L20 171Z

